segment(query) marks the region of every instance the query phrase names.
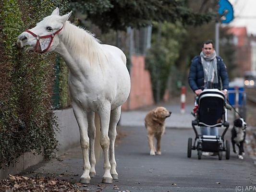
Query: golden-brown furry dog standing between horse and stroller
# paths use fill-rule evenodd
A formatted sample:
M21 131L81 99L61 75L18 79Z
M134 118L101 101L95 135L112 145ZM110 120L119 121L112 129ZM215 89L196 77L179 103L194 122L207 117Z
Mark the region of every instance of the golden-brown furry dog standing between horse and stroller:
M161 155L161 137L165 131L165 119L171 116L171 112L164 107L154 108L145 117L147 141L150 148L150 155ZM157 150L154 146L154 137L157 139Z

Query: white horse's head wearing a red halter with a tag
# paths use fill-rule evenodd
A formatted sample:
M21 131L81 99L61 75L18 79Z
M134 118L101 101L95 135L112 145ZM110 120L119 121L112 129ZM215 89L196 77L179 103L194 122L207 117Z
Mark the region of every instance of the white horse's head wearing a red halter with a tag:
M63 16L60 16L59 13L59 9L56 8L51 15L45 17L36 27L25 30L20 34L16 42L17 47L23 51L35 50L40 53L54 50L60 42L58 33L61 32L72 11Z

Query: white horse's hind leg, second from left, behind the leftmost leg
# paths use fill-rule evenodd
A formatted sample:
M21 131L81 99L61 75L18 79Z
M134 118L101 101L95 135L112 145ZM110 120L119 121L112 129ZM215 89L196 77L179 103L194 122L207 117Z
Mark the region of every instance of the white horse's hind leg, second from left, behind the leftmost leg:
M94 112L90 112L87 114L88 119L88 136L89 136L89 142L90 142L90 148L89 148L89 158L90 158L90 177L95 177L96 171L95 171L95 165L96 165L96 159L95 159L95 152L94 152L94 142L95 142L95 135L96 135L96 128L94 125Z

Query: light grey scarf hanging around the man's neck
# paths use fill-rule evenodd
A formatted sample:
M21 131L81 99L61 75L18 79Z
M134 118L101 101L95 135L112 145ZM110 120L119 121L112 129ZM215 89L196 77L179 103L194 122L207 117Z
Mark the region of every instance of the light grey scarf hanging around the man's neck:
M217 59L216 52L214 50L213 54L210 56L206 56L203 51L200 53L201 62L204 71L204 87L205 88L216 88L214 85L218 84L218 70L217 70ZM207 65L207 61L210 62Z

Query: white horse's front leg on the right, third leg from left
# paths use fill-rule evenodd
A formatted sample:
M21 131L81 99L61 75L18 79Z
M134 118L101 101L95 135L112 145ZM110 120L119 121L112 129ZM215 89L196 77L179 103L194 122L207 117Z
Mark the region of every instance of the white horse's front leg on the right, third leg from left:
M100 118L100 145L103 149L104 154L104 174L102 178L102 183L112 183L113 179L110 174L110 160L109 160L109 147L110 147L110 139L109 139L109 125L110 125L110 104L104 105L104 107L98 110L98 115Z

